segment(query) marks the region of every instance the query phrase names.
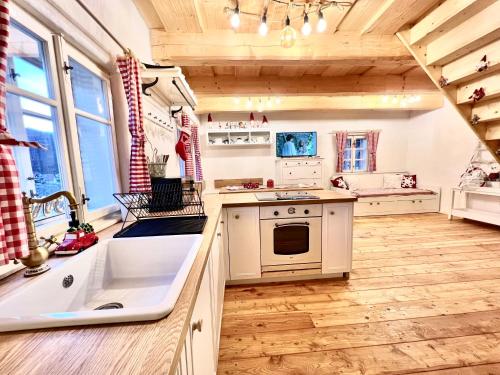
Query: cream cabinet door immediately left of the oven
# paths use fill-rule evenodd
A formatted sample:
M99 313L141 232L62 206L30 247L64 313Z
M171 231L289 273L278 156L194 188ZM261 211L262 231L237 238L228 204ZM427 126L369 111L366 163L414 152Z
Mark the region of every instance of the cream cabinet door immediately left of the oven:
M259 207L228 208L231 280L260 278Z

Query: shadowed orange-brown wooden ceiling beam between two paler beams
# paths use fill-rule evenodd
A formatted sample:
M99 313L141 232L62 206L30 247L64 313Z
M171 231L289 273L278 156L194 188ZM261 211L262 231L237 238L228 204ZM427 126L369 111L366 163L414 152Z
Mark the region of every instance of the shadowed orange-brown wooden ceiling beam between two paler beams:
M189 77L189 86L197 97L220 95L350 95L395 94L436 91L425 74L343 77Z

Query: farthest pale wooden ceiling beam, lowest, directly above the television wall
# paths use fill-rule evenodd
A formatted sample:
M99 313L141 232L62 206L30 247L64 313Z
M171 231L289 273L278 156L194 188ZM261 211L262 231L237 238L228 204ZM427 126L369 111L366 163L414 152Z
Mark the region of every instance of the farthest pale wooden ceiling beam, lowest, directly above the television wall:
M257 102L259 98L254 98ZM402 97L399 97L402 99ZM350 96L290 96L281 98L280 104L267 107L266 112L275 111L332 111L332 110L432 110L443 106L443 95L439 92L421 95L418 102L401 105L398 100L384 100L382 95ZM250 109L251 110L251 109ZM235 103L234 97L201 97L196 107L197 114L214 112L249 112L246 101Z

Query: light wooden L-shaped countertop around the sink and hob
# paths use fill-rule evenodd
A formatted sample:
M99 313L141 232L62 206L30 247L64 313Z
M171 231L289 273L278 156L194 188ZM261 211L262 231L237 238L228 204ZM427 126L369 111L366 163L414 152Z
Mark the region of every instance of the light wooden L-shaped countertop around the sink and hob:
M203 241L174 310L153 322L63 327L0 333L2 374L174 374L222 207L353 202L356 198L318 190L319 200L259 202L253 193L207 194ZM113 226L100 233L110 237ZM52 267L64 259L50 259ZM0 298L33 282L22 272L0 281Z

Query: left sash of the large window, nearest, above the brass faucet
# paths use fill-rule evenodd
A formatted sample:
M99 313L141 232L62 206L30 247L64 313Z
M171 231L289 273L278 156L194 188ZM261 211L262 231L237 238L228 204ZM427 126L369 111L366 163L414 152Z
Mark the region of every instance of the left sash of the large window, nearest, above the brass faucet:
M47 150L14 147L22 191L31 197L70 189L65 138L60 124L61 107L55 98L51 68L55 65L50 33L35 22L27 27L11 22L7 53L7 128L18 139L37 141ZM52 206L54 207L54 206ZM37 210L35 220L63 214L61 210Z

